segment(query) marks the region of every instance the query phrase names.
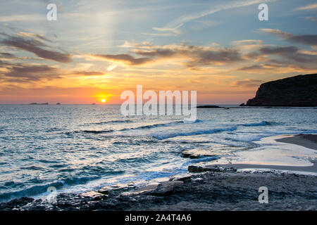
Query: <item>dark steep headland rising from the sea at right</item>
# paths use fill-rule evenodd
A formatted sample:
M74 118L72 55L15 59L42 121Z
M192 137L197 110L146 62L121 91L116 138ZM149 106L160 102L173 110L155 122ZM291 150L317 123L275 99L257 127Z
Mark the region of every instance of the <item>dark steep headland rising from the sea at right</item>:
M299 75L261 84L247 106L315 107L317 74Z

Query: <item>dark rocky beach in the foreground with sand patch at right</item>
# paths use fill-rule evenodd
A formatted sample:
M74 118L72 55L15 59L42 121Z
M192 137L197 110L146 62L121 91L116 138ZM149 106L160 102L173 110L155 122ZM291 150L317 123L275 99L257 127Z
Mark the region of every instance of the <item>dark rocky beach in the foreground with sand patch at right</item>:
M316 146L316 134L278 139L297 148ZM306 148L306 147L304 147ZM20 198L0 210L317 210L316 163L311 166L206 164L148 186L108 186L88 193L62 193L56 203ZM268 188L268 203L258 201Z

